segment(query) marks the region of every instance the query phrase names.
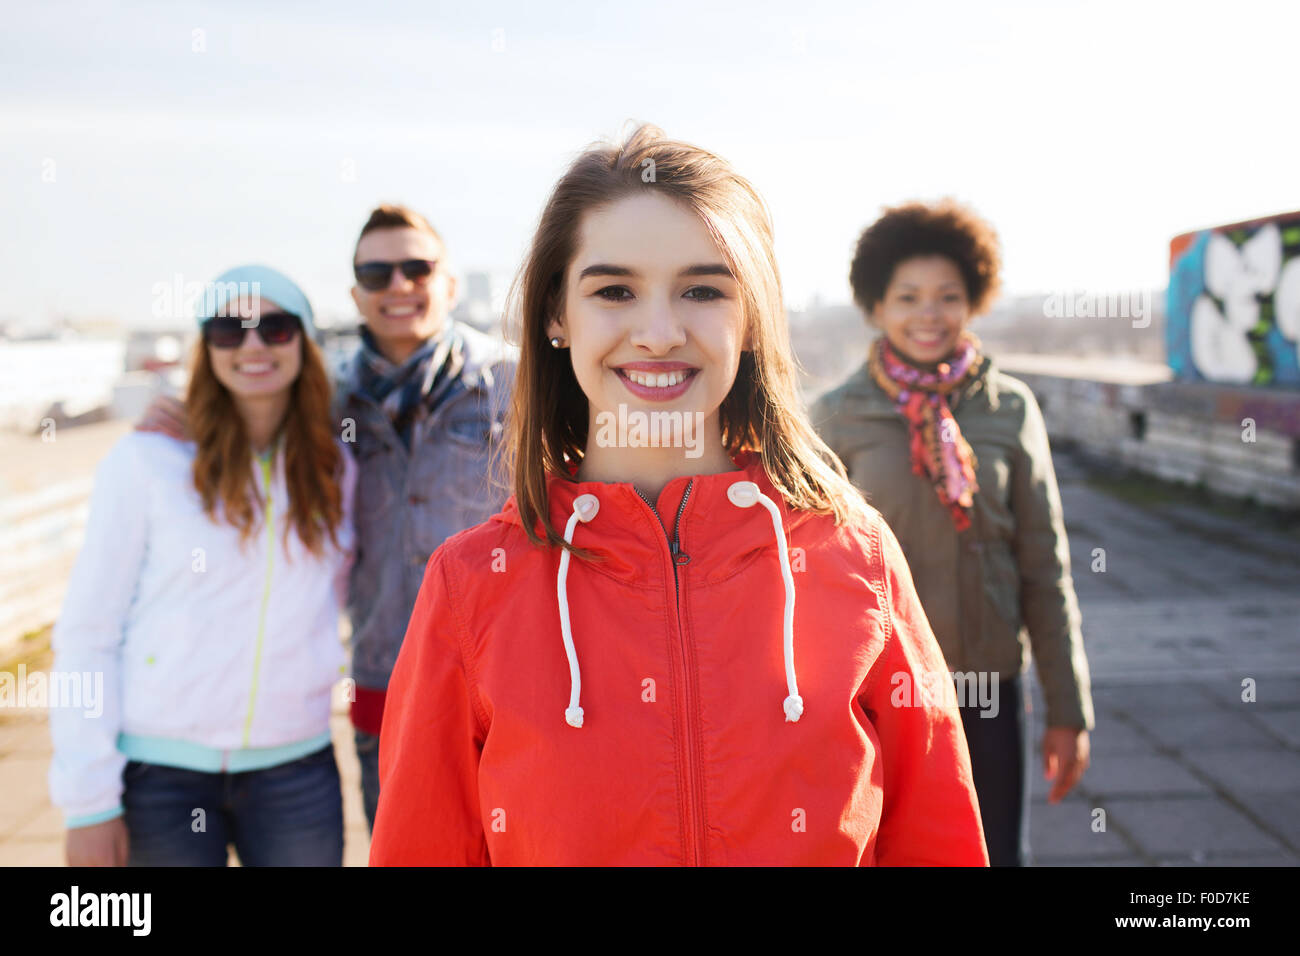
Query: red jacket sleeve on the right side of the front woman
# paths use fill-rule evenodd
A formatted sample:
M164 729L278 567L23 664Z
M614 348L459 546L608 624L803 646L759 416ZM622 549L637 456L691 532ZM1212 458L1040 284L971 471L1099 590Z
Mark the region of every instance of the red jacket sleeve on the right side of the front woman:
M884 770L880 866L987 866L970 752L944 654L897 538L876 523L888 632L862 706Z

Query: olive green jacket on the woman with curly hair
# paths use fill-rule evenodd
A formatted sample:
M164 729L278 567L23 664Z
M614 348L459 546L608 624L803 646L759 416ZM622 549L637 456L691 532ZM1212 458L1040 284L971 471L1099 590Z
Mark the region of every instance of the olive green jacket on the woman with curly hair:
M1092 693L1061 494L1030 388L985 363L949 397L978 460L971 527L958 533L911 471L907 420L863 364L812 406L812 424L893 529L954 672L1028 667L1032 648L1049 727L1092 730ZM1028 640L1026 640L1026 631Z

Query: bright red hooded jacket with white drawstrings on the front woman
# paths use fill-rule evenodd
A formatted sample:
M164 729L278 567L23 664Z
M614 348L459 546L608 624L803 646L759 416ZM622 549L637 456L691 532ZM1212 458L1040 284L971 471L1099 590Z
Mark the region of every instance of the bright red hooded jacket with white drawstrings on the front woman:
M893 693L948 669L892 532L737 466L654 507L551 479L601 562L530 544L514 498L434 553L372 865L987 865L954 695Z

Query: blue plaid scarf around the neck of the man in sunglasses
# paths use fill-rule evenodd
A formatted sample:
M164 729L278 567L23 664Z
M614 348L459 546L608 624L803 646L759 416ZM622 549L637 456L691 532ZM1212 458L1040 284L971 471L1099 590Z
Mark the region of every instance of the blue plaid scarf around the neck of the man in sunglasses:
M361 326L358 390L389 416L402 442L411 447L411 425L420 410L433 411L465 365L464 341L452 324L430 338L400 365L384 356L370 330Z

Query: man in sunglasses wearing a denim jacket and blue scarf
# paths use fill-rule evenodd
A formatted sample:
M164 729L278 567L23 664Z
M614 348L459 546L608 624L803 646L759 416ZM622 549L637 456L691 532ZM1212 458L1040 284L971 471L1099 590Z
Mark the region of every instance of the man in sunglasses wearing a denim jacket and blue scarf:
M385 691L429 555L500 510L508 489L490 467L515 376L514 350L451 319L456 280L433 226L380 206L352 259L361 347L335 382L333 418L358 463L352 623L352 726L365 817L380 797ZM233 341L246 332L224 323ZM265 316L259 334L282 336ZM269 325L269 328L266 328ZM290 332L291 334L291 332ZM183 406L157 398L138 425L183 437Z

